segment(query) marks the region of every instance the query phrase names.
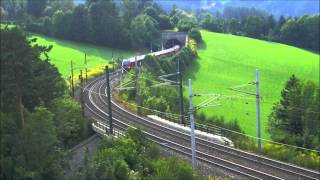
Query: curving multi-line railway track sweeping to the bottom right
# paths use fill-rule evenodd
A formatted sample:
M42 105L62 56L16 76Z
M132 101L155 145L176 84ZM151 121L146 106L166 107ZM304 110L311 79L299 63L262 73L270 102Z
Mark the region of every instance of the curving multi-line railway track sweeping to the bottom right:
M111 75L115 81L116 75ZM103 77L91 81L86 86L86 108L97 121L105 122L108 114L106 101L106 85ZM112 105L115 128L125 130L128 126L140 126L150 140L174 150L180 154L191 156L190 134L182 133L172 127L157 124L150 119L139 117ZM196 138L198 160L240 177L255 179L319 179L320 173L262 156L247 153L235 148L215 144Z

